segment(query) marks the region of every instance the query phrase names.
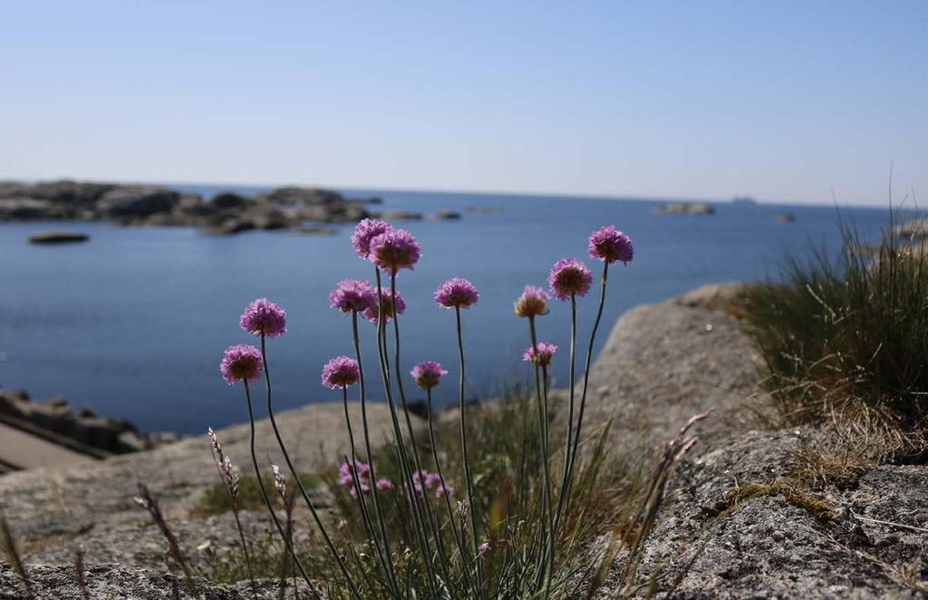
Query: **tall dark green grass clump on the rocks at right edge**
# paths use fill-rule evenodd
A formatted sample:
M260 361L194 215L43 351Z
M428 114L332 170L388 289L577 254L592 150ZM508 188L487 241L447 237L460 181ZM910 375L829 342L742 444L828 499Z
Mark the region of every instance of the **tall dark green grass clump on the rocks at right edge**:
M928 413L928 246L898 215L876 246L839 215L843 243L790 260L748 293L750 332L787 424L868 413L913 428Z

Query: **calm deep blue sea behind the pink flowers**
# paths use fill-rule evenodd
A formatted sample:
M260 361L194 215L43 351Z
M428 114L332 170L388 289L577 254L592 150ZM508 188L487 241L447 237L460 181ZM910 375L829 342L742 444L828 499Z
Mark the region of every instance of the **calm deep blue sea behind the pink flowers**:
M176 188L207 197L264 190ZM584 258L598 273L599 263L586 257L586 238L603 225L632 237L635 260L611 269L598 349L630 307L703 283L776 278L788 254L810 245L834 252L840 245L833 206L717 202L713 216L688 216L657 215L655 202L638 200L343 191L380 196L383 210L463 214L460 220L396 223L422 246L415 270L398 278L407 304L400 318L402 368L441 361L451 373L436 388L440 404L457 398L454 313L432 301L448 278L472 280L481 293L463 320L468 395L485 397L528 375L522 363L528 328L513 315L513 300L527 283L546 285L549 267L564 256ZM795 223L778 223L781 213L795 215ZM842 215L874 240L890 216L887 208L842 209ZM329 308L329 292L342 278L374 273L354 255L352 226L337 227L334 236L251 231L216 237L192 228L0 224L0 386L24 388L32 398L64 396L147 430L195 434L244 421L241 386L226 385L218 365L226 346L253 341L238 328L238 316L251 300L266 296L288 314L289 332L268 343L277 407L340 399L320 385L320 370L327 359L353 353L351 322ZM46 229L84 231L91 241L27 243ZM580 346L586 346L596 302L594 288L579 303ZM554 301L538 322L540 341L561 346L556 385L567 382L569 311ZM364 323L362 336L369 394L380 399L373 326ZM421 398L409 381L406 390L411 399Z

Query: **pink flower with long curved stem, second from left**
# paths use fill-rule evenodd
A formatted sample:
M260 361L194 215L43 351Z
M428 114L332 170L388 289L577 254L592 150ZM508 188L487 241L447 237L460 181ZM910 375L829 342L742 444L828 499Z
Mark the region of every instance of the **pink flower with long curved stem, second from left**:
M342 571L342 575L345 578L345 583L348 585L352 595L354 595L354 597L358 600L361 600L362 596L358 591L357 585L354 583L354 579L348 572L348 568L345 567L341 554L339 554L338 550L335 548L335 544L329 537L329 532L326 531L325 526L322 524L322 519L319 518L319 514L316 511L316 506L313 504L313 501L310 500L309 494L306 492L305 487L303 487L303 482L300 480L300 474L297 472L296 467L293 466L293 461L290 459L290 452L287 451L287 446L284 444L283 438L280 437L280 430L277 428L277 420L274 418L274 406L271 396L271 374L267 365L266 339L268 337L273 338L287 333L287 313L284 312L283 308L278 307L273 302L268 301L266 298L261 298L252 302L248 307L245 307L245 311L242 313L239 323L243 330L248 333L258 335L261 338L261 359L264 364L264 385L267 388L267 416L271 422L271 429L274 430L274 437L277 438L277 446L280 447L280 451L284 456L284 461L287 463L287 468L290 470L290 475L293 476L293 481L297 489L300 490L300 494L303 496L303 501L306 502L306 506L309 508L309 512L313 515L313 520L316 521L316 527L319 528L319 532L322 534L322 538L326 542L326 546L329 548L329 553L331 553L335 558L339 568ZM246 395L249 394L248 385L245 385L245 393ZM251 397L249 397L249 416L251 417ZM251 423L251 435L253 437L253 417L251 417ZM252 460L255 460L255 468L257 469L257 461L253 457L253 439L251 450ZM258 470L257 476L260 483L260 470ZM277 520L276 516L275 520ZM278 528L280 528L279 525L279 522L277 522ZM280 528L280 530L281 535L283 535L283 529ZM290 550L292 551L292 548ZM296 554L293 553L293 555L295 559ZM296 561L296 563L297 566L299 566L299 561Z

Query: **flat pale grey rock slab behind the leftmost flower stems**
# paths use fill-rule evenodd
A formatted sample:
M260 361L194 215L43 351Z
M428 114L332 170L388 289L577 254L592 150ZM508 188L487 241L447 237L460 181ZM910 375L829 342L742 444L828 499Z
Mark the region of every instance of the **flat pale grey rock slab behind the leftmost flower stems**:
M242 406L238 410L245 412ZM386 405L369 403L367 412L371 443L378 444L393 435ZM356 402L351 414L352 423L359 424ZM302 472L334 467L338 457L348 451L340 402L280 411L277 424L293 462ZM251 475L249 425L232 425L216 433L242 475ZM266 419L257 424L257 440L257 455L268 473L270 463L285 464ZM118 563L123 567L160 568L164 564L164 542L158 528L149 527L148 515L133 501L136 481L146 482L158 497L161 510L193 561L204 557L197 550L204 543L224 548L238 543L232 515L203 517L197 510L203 492L219 481L205 433L105 461L0 476L0 503L32 565L70 565L71 554L82 545L87 565ZM302 511L298 511L299 518L308 519L309 515ZM263 511L246 511L242 519L255 538L268 527ZM299 534L308 535L308 529L303 529Z

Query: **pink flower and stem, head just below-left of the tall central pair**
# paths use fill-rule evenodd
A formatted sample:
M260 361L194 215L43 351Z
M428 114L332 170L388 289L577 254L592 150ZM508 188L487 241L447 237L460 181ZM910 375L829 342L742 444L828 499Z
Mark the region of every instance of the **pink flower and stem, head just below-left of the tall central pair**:
M365 219L365 221L362 221L362 224L369 221L370 219ZM361 228L362 226L359 225L358 227ZM355 234L352 236L352 238L354 239L357 237L357 235L357 231L355 230ZM373 456L373 452L371 451L370 445L370 428L367 424L367 386L365 385L364 380L364 363L362 362L361 358L361 340L358 335L357 318L359 313L362 315L368 315L369 313L373 312L373 317L376 321L379 304L377 293L374 292L374 289L367 281L342 280L336 286L335 291L329 294L329 300L331 301L332 308L341 310L343 313L351 314L352 337L354 340L354 359L357 361L357 378L361 390L361 428L364 437L364 449L367 453L368 460L370 460ZM399 298L399 300L402 301L402 298ZM406 309L405 303L403 304L403 309ZM345 423L348 426L349 437L351 437L351 456L353 463L357 464L354 453L354 437L351 435L351 421L348 416L347 398L345 398L345 401ZM377 480L377 475L374 470L373 461L371 461L371 465L369 466L368 475L369 481L367 482L367 485L373 489L372 495L374 498L374 512L377 516L378 527L380 528L380 540L378 540L377 533L374 531L373 524L371 523L370 513L367 510L367 502L363 498L363 495L359 494L359 496L361 496L361 513L365 519L368 535L374 542L374 545L377 549L380 564L386 571L386 576L390 582L393 594L396 595L399 593L399 588L395 580L396 569L393 566L393 554L390 550L390 537L387 534L386 521L383 518L383 510L380 506L380 493L378 490L381 488L378 485L374 485L374 482ZM359 489L364 484L365 482L359 481L352 489Z

